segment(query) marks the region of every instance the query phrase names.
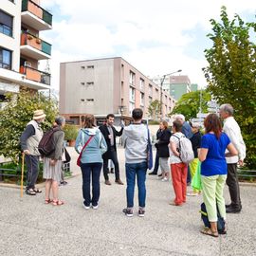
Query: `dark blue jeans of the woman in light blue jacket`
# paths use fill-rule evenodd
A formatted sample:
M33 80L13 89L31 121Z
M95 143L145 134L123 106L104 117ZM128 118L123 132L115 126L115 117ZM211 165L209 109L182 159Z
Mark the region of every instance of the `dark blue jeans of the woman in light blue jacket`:
M82 163L82 196L83 204L88 207L98 205L100 198L100 175L102 163ZM92 198L91 198L91 174L92 174Z

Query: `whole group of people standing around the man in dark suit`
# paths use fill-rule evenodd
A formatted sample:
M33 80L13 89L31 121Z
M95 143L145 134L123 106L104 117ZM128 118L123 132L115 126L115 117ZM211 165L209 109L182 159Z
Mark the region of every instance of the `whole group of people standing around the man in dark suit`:
M208 211L210 229L201 230L202 233L217 237L217 209L220 215L226 219L226 212L240 212L242 209L239 184L236 175L237 163L243 165L246 157L246 145L239 125L233 119L233 108L230 104L220 107L220 117L209 114L204 120L205 135L201 136L200 127L196 123L191 125L185 121L183 115L177 115L173 122L172 132L166 121L161 121L156 134L155 169L150 174L157 174L158 164L161 169L161 180L167 181L172 175L174 187L174 206L182 206L187 201L187 195L197 195L198 188L193 188L187 193L188 174L192 180L195 174L201 176L203 199ZM119 161L117 155L116 137L122 136L125 148L125 174L126 174L126 200L127 206L123 212L127 216L134 214L134 192L137 178L138 188L138 215L144 216L146 201L146 174L148 146L151 143L149 130L141 123L143 112L136 108L132 112L133 123L117 131L113 126L115 116L109 114L105 124L96 127L93 115L84 117L84 127L80 130L76 139L75 149L81 154L82 170L82 195L83 207L98 209L100 199L100 175L103 167L103 175L106 185L111 185L108 176L108 160L111 159L115 166L115 182L123 185L119 177ZM27 163L27 188L29 195L41 192L35 188L37 179L39 153L37 145L43 136L40 123L46 115L42 110L34 112L33 120L28 122L27 128L21 137L21 145L26 155ZM46 204L63 205L58 198L58 182L60 181L62 155L64 153L64 118L55 119L54 126L59 131L54 134L55 150L51 155L44 157L44 178L46 178ZM188 165L182 162L180 157L180 139L188 137L192 141L194 159ZM228 151L227 151L228 150ZM170 159L170 160L169 160ZM170 165L169 165L170 161ZM227 164L228 163L228 164ZM171 166L171 170L169 168ZM36 170L36 171L35 171ZM199 173L198 173L199 170ZM171 171L171 172L170 172ZM227 178L228 174L228 178ZM91 182L92 180L92 182ZM223 190L227 180L231 203L225 205ZM92 184L92 193L91 193ZM193 184L193 182L192 182ZM50 199L52 191L53 199ZM216 208L217 205L217 208Z

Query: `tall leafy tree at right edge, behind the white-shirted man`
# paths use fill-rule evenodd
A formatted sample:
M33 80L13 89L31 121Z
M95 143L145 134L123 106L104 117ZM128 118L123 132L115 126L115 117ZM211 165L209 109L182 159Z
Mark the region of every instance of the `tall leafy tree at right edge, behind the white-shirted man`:
M256 24L245 23L239 15L229 21L221 9L221 22L211 19L213 43L205 50L209 65L203 68L208 89L218 103L230 103L235 110L247 144L247 166L256 167Z

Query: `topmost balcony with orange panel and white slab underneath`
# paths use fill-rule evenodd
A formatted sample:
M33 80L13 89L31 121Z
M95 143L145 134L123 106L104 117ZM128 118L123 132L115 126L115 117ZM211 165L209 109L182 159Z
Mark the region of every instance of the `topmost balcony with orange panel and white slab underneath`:
M38 31L51 29L52 15L31 0L22 1L22 22Z

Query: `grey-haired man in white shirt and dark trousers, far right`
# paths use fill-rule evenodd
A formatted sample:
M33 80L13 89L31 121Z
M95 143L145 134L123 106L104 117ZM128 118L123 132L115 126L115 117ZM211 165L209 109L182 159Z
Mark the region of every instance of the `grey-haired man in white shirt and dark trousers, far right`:
M223 104L220 106L220 116L224 119L223 132L225 132L232 144L238 151L238 155L226 157L228 163L228 177L227 185L229 186L229 194L231 204L227 206L227 213L239 213L242 210L240 199L240 189L237 178L237 163L244 164L246 158L246 144L241 134L240 127L233 118L233 107L230 104Z

